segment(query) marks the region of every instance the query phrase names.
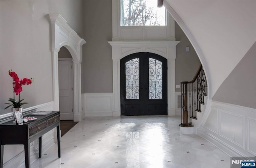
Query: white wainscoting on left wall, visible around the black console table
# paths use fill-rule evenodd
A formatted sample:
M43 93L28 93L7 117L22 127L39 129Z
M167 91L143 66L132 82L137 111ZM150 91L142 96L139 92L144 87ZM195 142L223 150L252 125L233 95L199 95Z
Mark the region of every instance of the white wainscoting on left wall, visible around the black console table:
M44 103L34 107L24 109L24 114L31 111L52 111L54 102ZM9 114L1 115L1 118L8 117ZM10 116L11 117L11 114ZM46 152L52 145L54 145L54 131L51 130L42 136L42 153ZM25 166L25 155L23 145L4 145L4 168L23 168ZM30 162L38 159L38 140L30 143Z

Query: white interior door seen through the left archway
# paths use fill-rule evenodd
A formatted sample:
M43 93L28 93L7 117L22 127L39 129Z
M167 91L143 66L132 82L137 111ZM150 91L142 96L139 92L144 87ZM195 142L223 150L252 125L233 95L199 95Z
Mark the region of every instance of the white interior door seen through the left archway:
M73 61L58 60L60 120L74 119Z

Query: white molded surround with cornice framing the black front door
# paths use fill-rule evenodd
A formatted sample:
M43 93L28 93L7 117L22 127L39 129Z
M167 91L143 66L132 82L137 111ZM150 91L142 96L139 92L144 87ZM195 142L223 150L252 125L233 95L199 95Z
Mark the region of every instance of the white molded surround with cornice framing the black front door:
M121 115L120 59L138 52L156 53L167 59L168 115L175 115L175 59L179 41L108 42L113 60L113 116Z

